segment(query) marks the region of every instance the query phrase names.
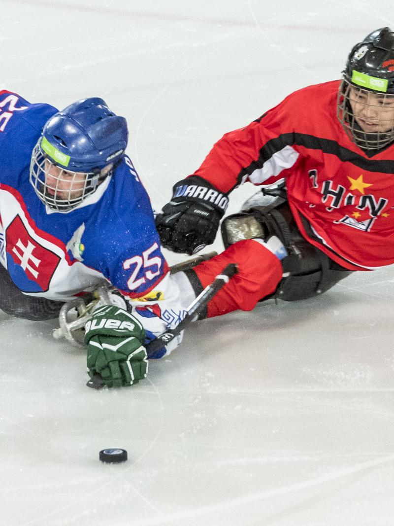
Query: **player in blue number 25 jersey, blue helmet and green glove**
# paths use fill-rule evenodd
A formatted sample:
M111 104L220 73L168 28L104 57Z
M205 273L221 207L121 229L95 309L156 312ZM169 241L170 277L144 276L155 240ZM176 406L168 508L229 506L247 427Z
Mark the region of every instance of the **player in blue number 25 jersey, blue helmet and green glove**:
M176 326L195 297L170 275L127 141L100 98L58 112L0 92L0 308L55 318L103 281L116 287L85 337L89 372L109 387L146 376L146 333Z

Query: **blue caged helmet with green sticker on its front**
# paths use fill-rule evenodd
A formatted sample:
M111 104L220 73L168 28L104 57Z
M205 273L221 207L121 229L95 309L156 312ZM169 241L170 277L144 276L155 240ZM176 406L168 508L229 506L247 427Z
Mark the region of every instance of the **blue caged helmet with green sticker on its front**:
M30 183L50 208L74 208L112 174L127 140L126 119L104 100L78 100L44 126L32 154Z

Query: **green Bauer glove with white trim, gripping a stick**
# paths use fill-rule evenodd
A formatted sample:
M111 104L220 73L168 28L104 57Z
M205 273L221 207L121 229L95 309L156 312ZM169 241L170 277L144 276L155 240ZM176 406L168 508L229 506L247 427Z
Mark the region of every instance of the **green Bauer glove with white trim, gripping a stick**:
M146 378L145 330L127 311L104 306L85 326L90 378L100 375L107 387L131 386Z

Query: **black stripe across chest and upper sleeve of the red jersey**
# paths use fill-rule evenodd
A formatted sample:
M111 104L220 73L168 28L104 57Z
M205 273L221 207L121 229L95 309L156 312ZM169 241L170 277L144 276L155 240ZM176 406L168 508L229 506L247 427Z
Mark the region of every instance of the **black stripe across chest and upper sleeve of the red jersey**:
M285 146L294 145L304 146L305 148L310 148L313 150L322 150L323 153L335 155L341 161L351 163L362 170L394 175L394 159L366 159L354 151L340 146L335 140L323 139L321 137L315 137L314 135L287 133L279 135L278 137L275 137L275 139L269 140L260 149L258 159L240 171L237 176L237 183L235 186L241 183L241 180L245 175L251 175L254 170L262 168L268 159L270 159L278 151L281 151Z

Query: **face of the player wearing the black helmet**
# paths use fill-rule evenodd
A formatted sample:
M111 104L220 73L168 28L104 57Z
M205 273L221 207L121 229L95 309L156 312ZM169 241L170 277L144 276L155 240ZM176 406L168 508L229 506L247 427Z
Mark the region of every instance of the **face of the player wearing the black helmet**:
M357 124L366 133L385 133L393 129L394 95L351 86L349 103Z

